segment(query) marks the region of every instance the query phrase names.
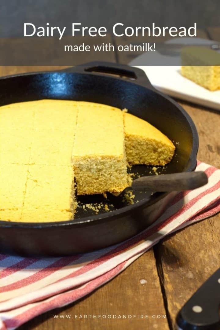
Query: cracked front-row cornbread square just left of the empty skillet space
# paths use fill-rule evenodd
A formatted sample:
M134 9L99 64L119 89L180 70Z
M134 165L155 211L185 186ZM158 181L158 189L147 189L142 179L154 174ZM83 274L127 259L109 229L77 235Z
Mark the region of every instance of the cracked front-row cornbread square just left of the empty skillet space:
M29 166L21 221L69 220L74 207L72 166Z

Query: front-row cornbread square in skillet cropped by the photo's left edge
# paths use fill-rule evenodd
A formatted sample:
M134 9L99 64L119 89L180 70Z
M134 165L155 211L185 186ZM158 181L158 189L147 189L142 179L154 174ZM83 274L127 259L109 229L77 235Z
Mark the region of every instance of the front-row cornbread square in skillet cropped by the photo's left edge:
M0 165L0 220L20 220L27 171L28 165Z

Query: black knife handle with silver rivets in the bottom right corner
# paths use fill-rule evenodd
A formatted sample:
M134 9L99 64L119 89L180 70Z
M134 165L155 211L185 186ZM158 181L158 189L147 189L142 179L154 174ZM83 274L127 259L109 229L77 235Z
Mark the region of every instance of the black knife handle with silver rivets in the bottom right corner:
M220 268L187 301L176 317L182 330L220 329Z

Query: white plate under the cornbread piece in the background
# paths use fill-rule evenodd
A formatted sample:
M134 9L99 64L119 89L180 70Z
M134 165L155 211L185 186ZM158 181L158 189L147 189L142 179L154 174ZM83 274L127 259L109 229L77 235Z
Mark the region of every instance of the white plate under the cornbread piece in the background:
M201 40L204 43L214 43L214 41L193 38L198 43ZM180 38L172 39L172 43L180 43ZM171 42L169 40L169 42ZM157 56L163 56L157 53ZM197 85L195 82L183 77L180 74L180 66L140 66L138 64L144 63L144 57L147 54L141 54L136 59L132 60L130 65L136 66L145 71L152 85L158 90L166 93L172 97L178 97L180 99L194 102L205 107L220 110L220 90L209 91L208 89ZM178 57L177 57L178 58ZM175 60L177 60L175 58Z

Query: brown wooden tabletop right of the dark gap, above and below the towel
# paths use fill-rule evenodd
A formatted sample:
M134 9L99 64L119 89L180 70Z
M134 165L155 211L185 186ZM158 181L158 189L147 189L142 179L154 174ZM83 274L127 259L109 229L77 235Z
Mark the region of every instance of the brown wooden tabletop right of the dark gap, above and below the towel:
M180 102L196 124L198 159L220 168L220 115ZM160 276L166 292L173 329L179 309L220 267L220 214L195 223L156 247Z

